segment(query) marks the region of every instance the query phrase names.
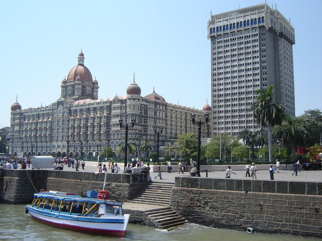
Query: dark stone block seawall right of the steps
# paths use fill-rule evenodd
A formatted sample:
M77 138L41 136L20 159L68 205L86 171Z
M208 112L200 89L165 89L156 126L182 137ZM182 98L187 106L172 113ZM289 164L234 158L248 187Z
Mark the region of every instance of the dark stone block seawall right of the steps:
M322 182L176 177L171 208L211 227L322 237Z

